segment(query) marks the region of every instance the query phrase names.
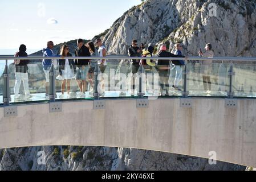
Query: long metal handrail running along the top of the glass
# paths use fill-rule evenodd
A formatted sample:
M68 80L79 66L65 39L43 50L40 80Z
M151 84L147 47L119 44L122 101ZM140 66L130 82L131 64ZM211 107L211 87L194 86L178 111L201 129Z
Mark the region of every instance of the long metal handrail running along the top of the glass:
M5 56L0 55L0 60L43 60L43 59L62 59L59 56L52 56L52 57L43 57L43 56L28 56L28 57L14 57L14 56ZM63 59L87 59L87 60L131 60L131 59L146 59L145 57L129 57L129 56L105 56L105 57L64 57ZM150 57L152 60L200 60L200 61L251 61L255 62L256 57L157 57L152 56Z

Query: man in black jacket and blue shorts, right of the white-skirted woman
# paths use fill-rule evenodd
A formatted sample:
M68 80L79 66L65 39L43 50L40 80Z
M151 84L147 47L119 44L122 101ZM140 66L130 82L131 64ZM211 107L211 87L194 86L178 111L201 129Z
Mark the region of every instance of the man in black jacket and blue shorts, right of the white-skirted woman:
M78 48L75 49L75 56L76 57L90 57L91 53L89 49L84 46L83 39L78 39ZM80 98L86 97L86 89L87 89L87 82L86 77L89 71L89 62L88 59L79 59L75 60L76 65L76 82L78 82L78 86L80 89Z

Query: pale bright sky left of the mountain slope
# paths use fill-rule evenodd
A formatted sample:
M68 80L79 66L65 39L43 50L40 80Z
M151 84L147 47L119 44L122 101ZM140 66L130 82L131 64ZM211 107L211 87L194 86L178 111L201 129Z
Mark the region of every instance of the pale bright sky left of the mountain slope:
M140 0L1 0L0 54L26 44L30 52L72 39L92 39ZM10 51L10 50L9 50Z

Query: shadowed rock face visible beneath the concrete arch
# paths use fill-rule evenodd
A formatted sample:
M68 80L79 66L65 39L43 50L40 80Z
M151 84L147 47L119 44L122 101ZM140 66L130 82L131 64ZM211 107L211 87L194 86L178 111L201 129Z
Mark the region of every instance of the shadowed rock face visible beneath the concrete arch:
M217 165L210 165L208 159L132 148L46 146L0 150L0 171L245 169L235 164L217 162Z

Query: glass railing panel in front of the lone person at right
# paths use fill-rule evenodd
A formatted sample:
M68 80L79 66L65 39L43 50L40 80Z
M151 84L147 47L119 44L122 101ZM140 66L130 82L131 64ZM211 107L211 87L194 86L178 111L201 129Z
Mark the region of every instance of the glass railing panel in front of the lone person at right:
M188 96L227 97L230 64L223 61L188 61Z

